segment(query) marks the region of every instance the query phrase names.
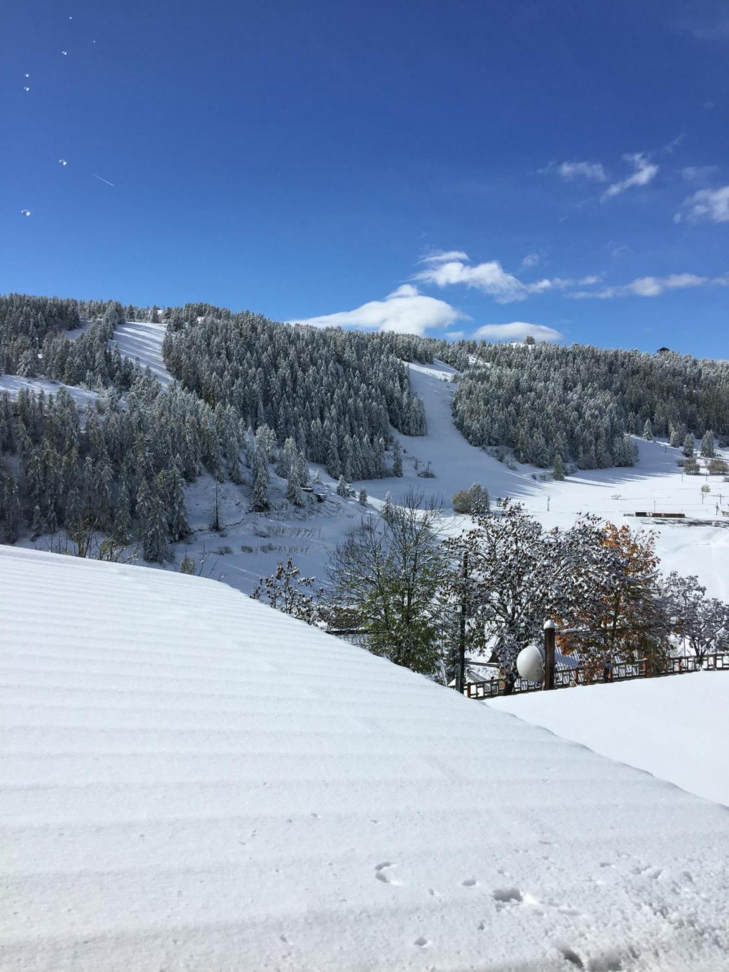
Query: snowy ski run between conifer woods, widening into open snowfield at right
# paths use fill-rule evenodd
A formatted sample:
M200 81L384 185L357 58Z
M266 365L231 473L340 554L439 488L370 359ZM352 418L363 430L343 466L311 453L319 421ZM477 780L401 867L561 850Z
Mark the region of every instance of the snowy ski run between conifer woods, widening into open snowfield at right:
M399 435L406 454L402 479L380 479L365 483L368 495L381 500L388 490L398 500L407 488L421 490L426 498L441 499L446 516L443 532L461 530L468 522L464 516L450 514L450 501L473 482L488 486L492 499L510 497L523 503L547 528L573 525L580 513L596 513L617 526L650 529L656 535L656 550L661 569L668 573L695 573L713 597L729 601L729 517L716 513L716 506L729 510L729 482L721 476L682 476L677 466L680 450L665 442L635 441L639 463L630 469L578 470L564 482L549 479L549 470L504 463L478 449L453 425L451 399L455 384L450 381L453 368L446 364L410 364L412 387L425 403L428 434ZM717 450L729 460L729 452ZM431 463L433 479L418 476ZM545 479L541 479L545 476ZM537 477L537 478L535 478ZM355 484L359 485L359 484ZM701 487L711 493L702 502ZM654 505L655 504L655 505ZM653 523L635 519L637 511L683 512L699 522L696 526L679 523ZM712 521L725 522L725 527Z

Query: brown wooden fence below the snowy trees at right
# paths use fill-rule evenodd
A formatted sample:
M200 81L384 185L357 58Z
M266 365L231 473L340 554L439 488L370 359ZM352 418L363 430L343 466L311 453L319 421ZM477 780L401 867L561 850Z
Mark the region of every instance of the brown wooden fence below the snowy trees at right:
M660 669L649 668L643 658L638 662L618 662L609 667L608 672L596 672L594 666L578 665L575 668L557 666L554 670L554 688L570 688L574 685L596 685L611 681L628 681L631 678L663 677L685 675L700 671L729 672L729 652L717 651L711 655L697 658L696 655L677 655L669 658ZM543 688L540 681L527 681L517 677L510 691L505 678L490 678L488 681L471 681L464 686L464 695L469 699L493 699L498 695L517 692L538 692Z

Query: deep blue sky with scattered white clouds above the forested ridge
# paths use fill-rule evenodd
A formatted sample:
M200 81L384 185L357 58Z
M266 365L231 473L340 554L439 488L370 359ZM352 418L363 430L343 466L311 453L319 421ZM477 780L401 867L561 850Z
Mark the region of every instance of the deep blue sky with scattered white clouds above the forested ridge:
M728 57L712 0L6 0L0 292L728 357Z

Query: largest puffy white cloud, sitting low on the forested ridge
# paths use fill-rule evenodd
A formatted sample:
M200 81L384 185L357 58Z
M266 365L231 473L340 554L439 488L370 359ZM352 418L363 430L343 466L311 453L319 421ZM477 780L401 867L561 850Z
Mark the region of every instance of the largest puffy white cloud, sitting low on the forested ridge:
M401 334L424 334L427 330L444 330L454 321L466 318L445 300L418 293L412 284L403 284L384 300L369 300L354 310L340 311L289 321L315 328L361 328L363 330L396 330Z

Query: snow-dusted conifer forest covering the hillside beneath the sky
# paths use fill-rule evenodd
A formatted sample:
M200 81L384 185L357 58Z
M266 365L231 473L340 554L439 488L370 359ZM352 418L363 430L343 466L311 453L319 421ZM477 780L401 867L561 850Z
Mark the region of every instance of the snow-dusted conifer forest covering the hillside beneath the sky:
M162 389L121 356L124 321L167 326ZM81 332L68 336L69 331ZM138 535L145 556L185 536L185 484L203 471L267 503L268 466L297 502L306 461L351 482L397 475L393 430L427 431L406 362L461 373L456 426L477 446L541 468L630 466L631 433L729 435L729 364L572 345L503 345L276 324L207 304L0 297L0 374L46 377L98 394L0 394L0 541L90 524ZM647 423L647 426L646 426Z

